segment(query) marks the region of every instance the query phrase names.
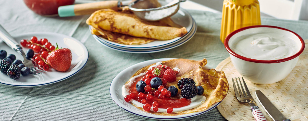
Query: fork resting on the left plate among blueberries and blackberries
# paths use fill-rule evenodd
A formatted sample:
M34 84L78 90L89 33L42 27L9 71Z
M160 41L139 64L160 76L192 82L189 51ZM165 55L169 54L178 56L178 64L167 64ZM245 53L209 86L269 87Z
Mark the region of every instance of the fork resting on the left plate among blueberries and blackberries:
M25 65L25 67L30 68L30 74L39 75L43 74L44 72L47 72L44 71L41 67L39 67L39 65L37 65L31 58L29 59L26 58L26 54L25 52L22 51L22 47L18 45L18 42L16 42L16 40L1 25L0 25L0 37L8 46L10 46L10 48L12 48L13 50L22 55L23 57L22 63Z

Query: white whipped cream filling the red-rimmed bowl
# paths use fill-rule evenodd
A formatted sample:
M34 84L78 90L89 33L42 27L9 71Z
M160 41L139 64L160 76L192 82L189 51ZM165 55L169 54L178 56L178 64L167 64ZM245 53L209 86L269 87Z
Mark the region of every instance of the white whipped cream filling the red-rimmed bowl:
M300 47L292 37L278 31L244 34L235 38L230 45L235 53L257 60L277 60L296 54Z

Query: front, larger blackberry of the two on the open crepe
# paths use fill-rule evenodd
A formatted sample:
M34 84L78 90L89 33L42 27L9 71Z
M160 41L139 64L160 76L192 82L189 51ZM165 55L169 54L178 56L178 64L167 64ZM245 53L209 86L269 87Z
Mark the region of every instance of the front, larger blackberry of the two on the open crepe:
M196 85L193 85L192 83L185 84L181 90L181 95L185 99L191 99L195 97L197 93L198 93L198 88Z

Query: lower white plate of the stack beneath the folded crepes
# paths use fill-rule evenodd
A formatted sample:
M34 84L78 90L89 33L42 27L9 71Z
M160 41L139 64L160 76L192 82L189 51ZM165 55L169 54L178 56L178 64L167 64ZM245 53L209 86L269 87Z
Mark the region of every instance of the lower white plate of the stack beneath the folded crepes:
M94 35L93 35L93 37L95 38L96 41L101 43L103 46L106 46L106 47L113 49L113 50L118 50L118 51L127 52L127 53L155 53L155 52L170 50L172 48L175 48L177 46L180 46L180 45L188 42L193 37L193 35L196 34L197 26L196 26L196 24L194 26L195 27L193 27L193 31L186 38L183 38L181 41L176 42L176 43L171 44L171 45L168 45L168 46L163 46L163 47L155 48L155 49L144 49L144 50L125 49L125 48L120 48L120 47L116 47L116 46L111 46L104 41L99 41L99 39L97 37L95 37Z

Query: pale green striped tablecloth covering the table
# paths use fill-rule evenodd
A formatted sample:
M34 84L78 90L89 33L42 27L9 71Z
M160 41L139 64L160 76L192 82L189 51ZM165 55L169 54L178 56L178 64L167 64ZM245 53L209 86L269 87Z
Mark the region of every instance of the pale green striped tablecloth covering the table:
M1 84L0 120L152 120L123 110L111 99L109 86L120 71L156 58L206 58L208 65L215 68L229 57L219 39L221 14L189 10L198 25L197 33L190 41L164 52L130 54L111 50L96 42L85 23L88 16L42 17L28 10L22 0L2 0L0 10L0 24L13 36L37 31L55 32L80 40L89 51L87 65L69 79L39 87ZM262 18L262 24L284 27L304 39L308 38L307 21ZM183 120L225 119L214 108L202 115Z

